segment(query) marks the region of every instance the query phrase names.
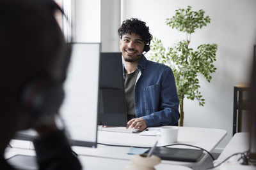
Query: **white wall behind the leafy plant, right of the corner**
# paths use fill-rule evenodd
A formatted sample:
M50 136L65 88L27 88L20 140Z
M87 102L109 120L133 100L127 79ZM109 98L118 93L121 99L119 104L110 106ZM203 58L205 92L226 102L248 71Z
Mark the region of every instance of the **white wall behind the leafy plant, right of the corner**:
M124 0L123 18L137 17L145 21L153 36L171 46L186 35L171 30L165 19L171 18L177 8L192 6L204 10L211 24L198 29L191 36L191 46L203 43L218 45L216 73L208 83L200 77L205 106L197 101L184 101L184 126L225 129L227 137L218 145L224 148L232 138L234 85L246 82L256 45L255 0Z

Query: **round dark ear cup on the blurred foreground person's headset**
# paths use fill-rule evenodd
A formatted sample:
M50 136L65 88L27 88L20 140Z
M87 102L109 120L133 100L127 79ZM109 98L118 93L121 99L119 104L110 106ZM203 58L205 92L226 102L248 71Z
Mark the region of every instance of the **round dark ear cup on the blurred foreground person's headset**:
M45 120L58 113L63 99L62 83L37 78L26 83L21 92L20 103L34 118Z

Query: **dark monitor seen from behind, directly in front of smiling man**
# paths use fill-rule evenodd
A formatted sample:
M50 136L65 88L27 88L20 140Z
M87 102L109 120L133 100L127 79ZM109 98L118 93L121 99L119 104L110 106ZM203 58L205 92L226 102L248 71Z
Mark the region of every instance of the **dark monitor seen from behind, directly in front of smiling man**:
M122 53L100 53L99 125L126 127Z

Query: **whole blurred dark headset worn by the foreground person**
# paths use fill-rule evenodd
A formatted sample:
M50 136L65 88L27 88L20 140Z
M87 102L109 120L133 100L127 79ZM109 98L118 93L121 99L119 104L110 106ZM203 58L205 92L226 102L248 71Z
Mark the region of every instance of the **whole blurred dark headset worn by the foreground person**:
M67 16L61 10L60 6L52 0L37 0L42 6L45 6L54 17L55 11L60 11L61 14ZM51 80L45 76L39 76L27 81L20 92L20 103L27 111L32 113L32 116L38 120L38 124L47 124L52 119L61 106L64 99L63 81L66 78L67 67L70 61L71 45L67 44L67 52L63 62L63 78L60 81Z

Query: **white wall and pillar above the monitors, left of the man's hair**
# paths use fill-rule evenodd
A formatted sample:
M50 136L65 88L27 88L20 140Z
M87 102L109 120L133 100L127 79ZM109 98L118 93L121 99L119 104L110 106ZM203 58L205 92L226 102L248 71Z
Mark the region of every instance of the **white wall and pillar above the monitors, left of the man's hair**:
M101 42L102 52L119 52L120 0L72 0L74 41Z

